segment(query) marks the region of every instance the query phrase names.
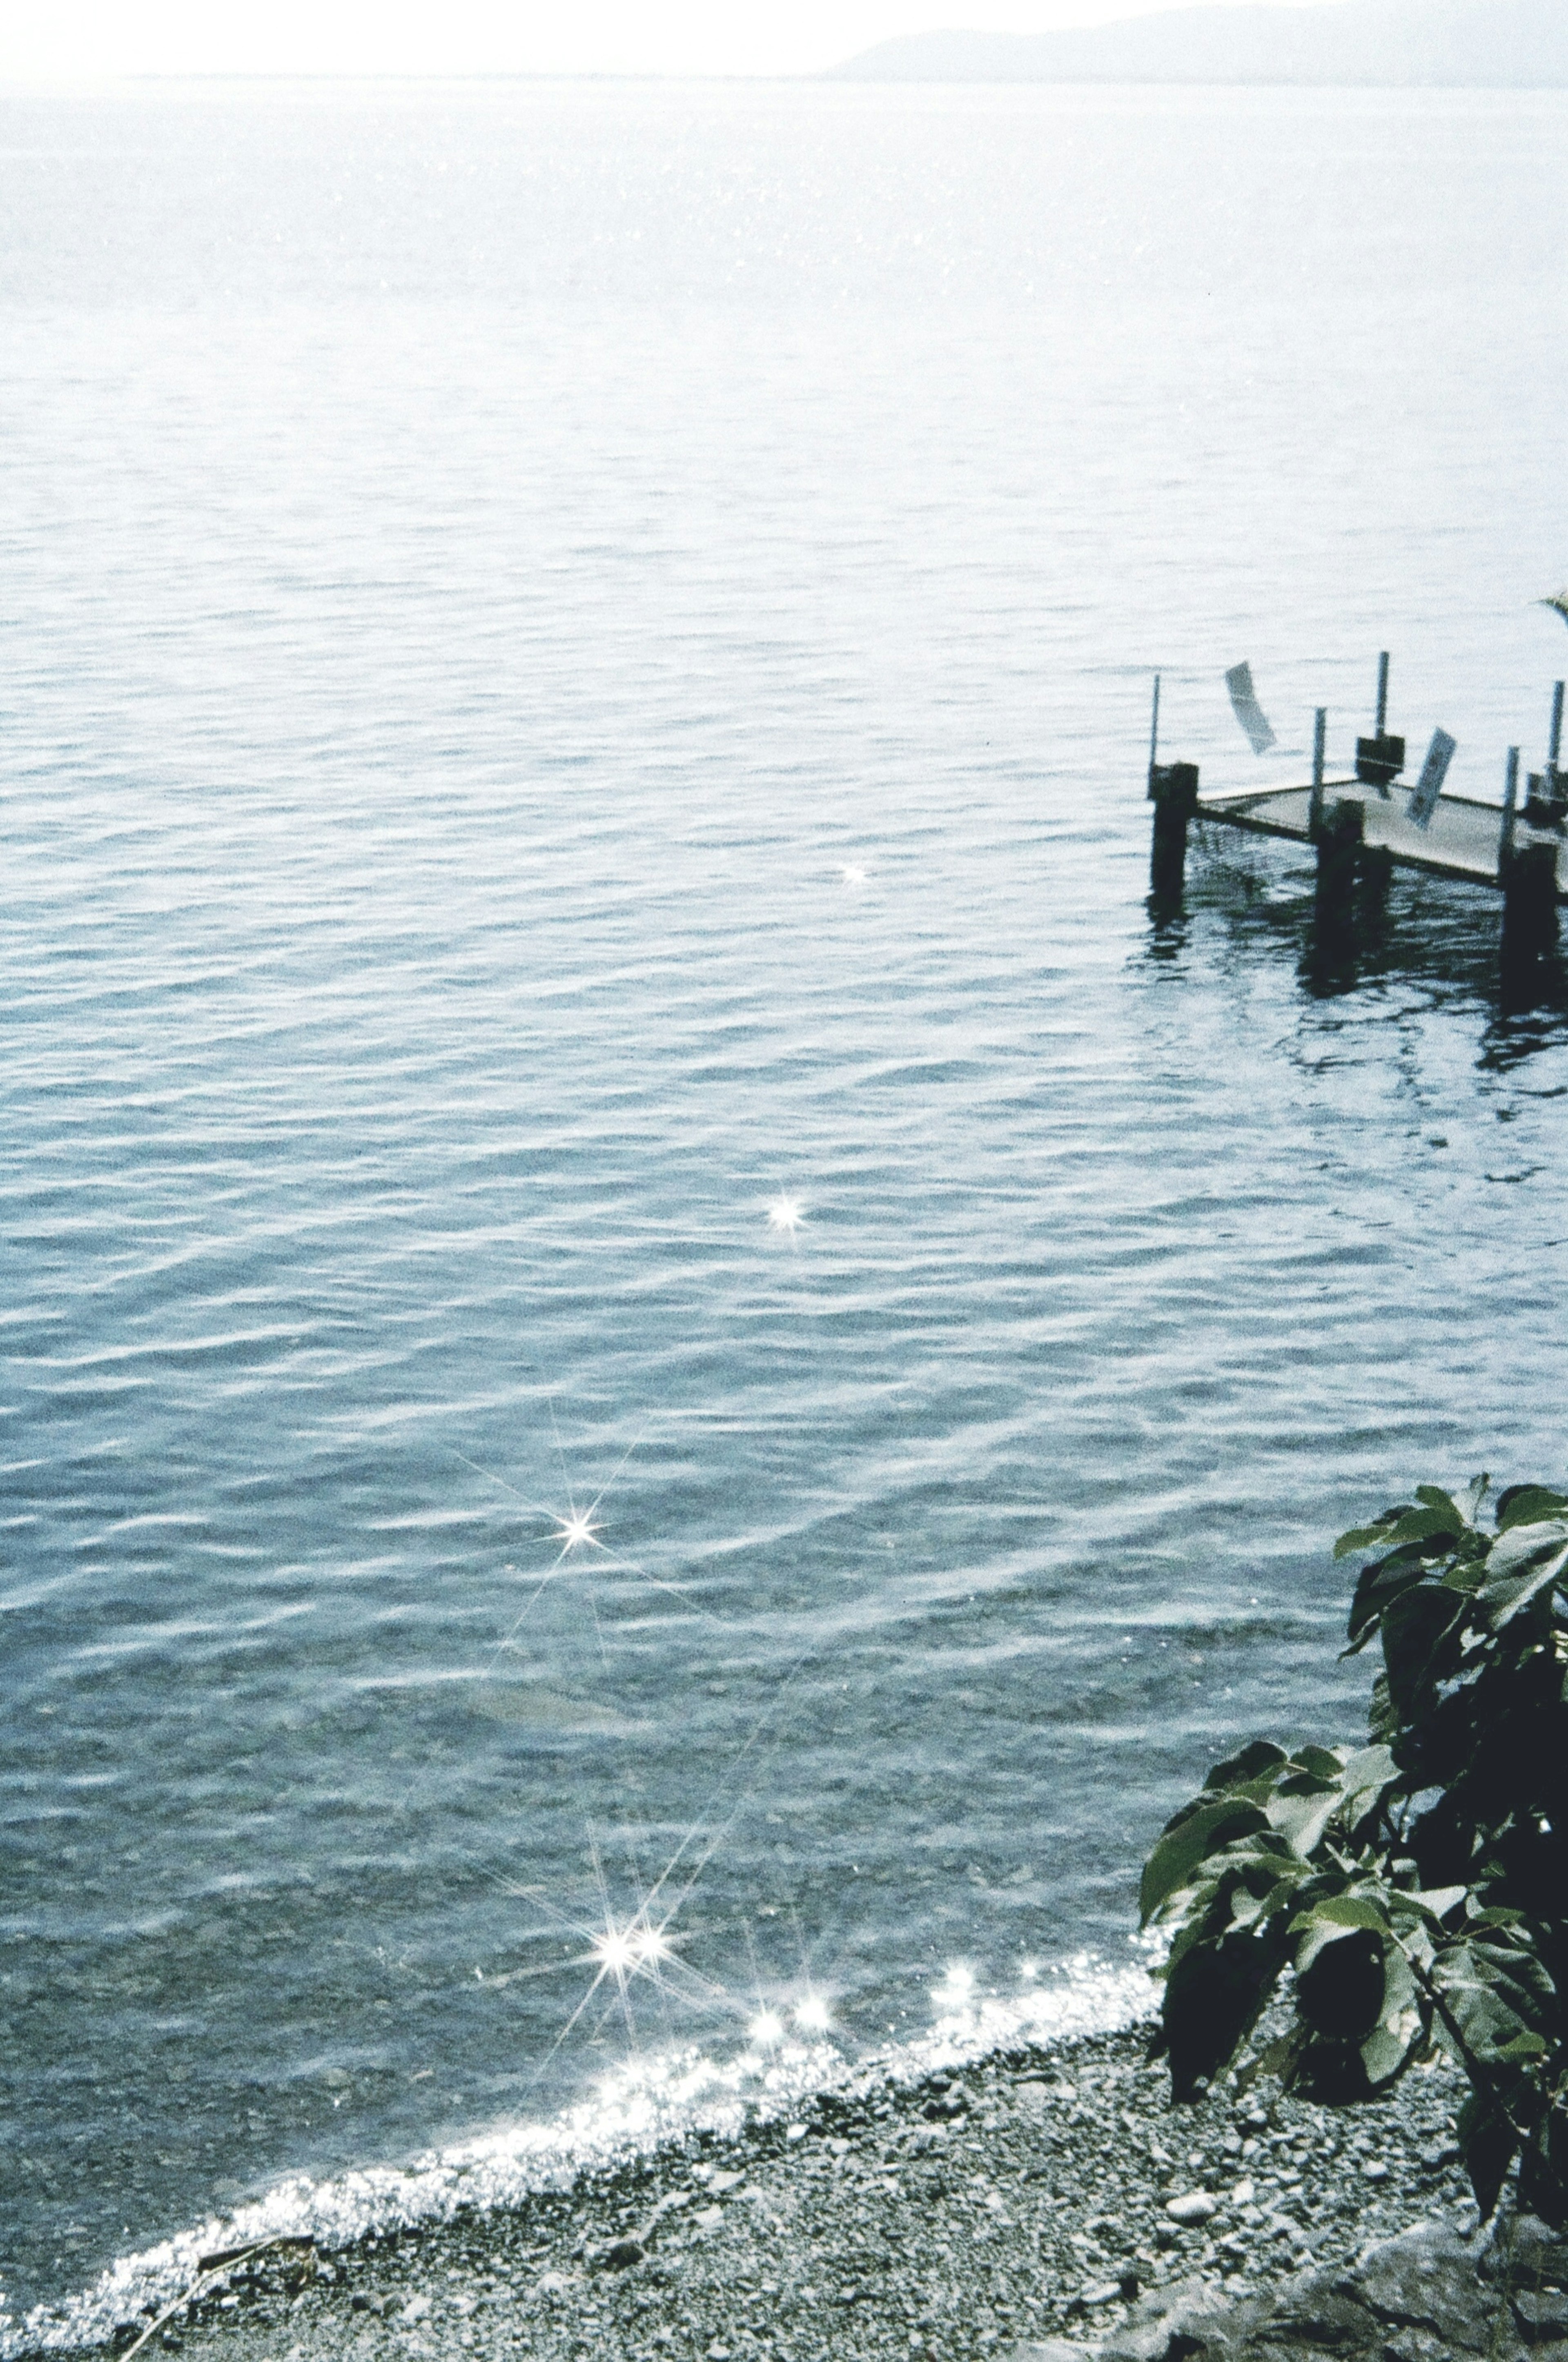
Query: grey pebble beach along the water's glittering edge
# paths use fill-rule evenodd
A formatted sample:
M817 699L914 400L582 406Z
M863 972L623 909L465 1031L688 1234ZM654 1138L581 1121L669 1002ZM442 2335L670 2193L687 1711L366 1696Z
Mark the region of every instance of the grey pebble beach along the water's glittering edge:
M1474 2227L1450 2071L1355 2109L1275 2086L1174 2109L1145 2050L1138 2027L827 2090L793 2121L692 2133L515 2208L331 2256L279 2246L142 2350L968 2362L1100 2338L1167 2282L1259 2296L1417 2220Z

